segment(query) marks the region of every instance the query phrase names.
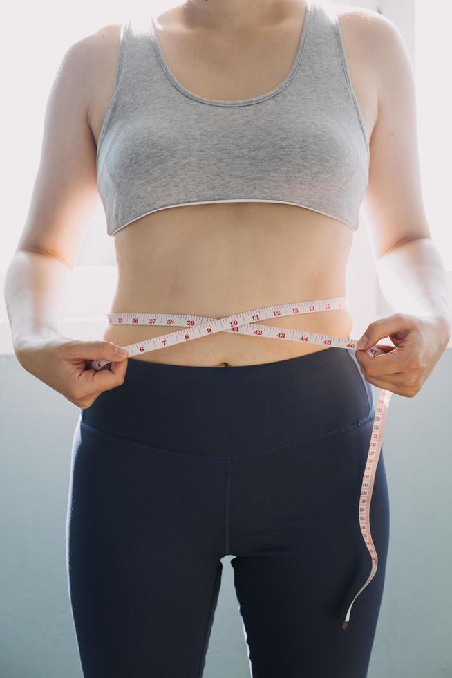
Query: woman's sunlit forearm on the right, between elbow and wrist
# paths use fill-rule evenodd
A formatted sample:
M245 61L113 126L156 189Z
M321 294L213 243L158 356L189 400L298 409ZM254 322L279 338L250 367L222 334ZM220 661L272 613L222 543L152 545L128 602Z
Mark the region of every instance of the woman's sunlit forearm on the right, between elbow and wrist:
M396 313L435 316L450 331L446 270L431 238L417 238L388 250L377 259L377 275Z

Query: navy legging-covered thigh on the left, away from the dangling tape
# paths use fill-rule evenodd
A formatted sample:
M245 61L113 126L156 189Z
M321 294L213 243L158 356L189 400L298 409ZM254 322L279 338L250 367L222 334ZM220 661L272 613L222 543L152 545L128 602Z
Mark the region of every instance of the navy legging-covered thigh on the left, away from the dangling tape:
M77 425L66 535L85 678L200 677L223 567L224 465Z

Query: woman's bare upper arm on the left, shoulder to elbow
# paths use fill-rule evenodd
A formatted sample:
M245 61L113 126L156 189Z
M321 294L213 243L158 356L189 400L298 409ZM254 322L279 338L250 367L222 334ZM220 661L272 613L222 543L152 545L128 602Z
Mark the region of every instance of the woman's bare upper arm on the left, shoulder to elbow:
M57 69L44 116L41 156L17 249L49 253L73 268L99 207L96 143L88 124L97 62L95 35L71 45Z

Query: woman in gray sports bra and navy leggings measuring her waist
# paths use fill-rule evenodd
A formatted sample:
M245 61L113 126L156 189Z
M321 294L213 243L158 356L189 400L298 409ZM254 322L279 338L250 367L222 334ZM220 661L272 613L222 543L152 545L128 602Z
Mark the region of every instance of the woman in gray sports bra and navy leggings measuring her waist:
M77 42L55 80L6 297L21 365L81 408L67 535L85 677L198 678L227 554L254 677L366 676L388 549L383 458L379 566L346 633L342 622L370 562L357 516L370 384L414 396L451 325L404 44L376 12L336 9L187 0ZM119 271L113 322L102 340L73 340L66 284L99 194ZM352 327L334 304L363 201L399 311L366 329L367 348L393 341L385 355L337 345ZM256 338L243 323L153 342L170 334L159 313L173 332L189 327L182 314L300 300L332 305L261 326L335 345Z

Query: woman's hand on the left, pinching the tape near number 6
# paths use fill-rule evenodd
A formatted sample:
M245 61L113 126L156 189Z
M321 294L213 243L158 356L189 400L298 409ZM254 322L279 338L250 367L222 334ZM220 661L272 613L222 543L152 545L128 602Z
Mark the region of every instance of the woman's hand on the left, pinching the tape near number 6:
M122 349L116 355L115 348ZM90 407L102 391L124 383L127 350L105 340L36 337L23 341L15 354L21 366L64 395L77 407ZM111 361L100 370L88 369L91 360Z

